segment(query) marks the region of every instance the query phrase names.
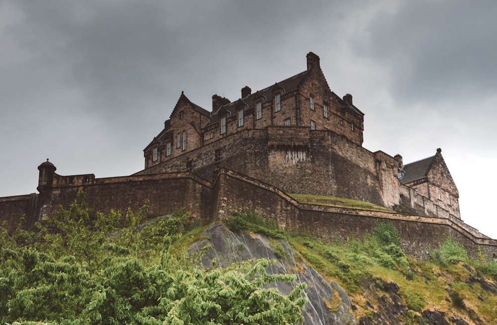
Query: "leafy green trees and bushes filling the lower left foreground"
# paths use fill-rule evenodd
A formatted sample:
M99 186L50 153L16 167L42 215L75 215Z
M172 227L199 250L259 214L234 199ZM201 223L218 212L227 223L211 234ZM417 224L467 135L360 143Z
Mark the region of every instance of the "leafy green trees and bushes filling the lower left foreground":
M35 232L0 232L0 323L294 324L304 285L289 295L267 289L294 281L265 272L267 260L232 269L199 268L171 251L184 211L137 231L137 213L91 213L84 193ZM120 225L120 229L118 229ZM243 271L243 272L242 272Z

